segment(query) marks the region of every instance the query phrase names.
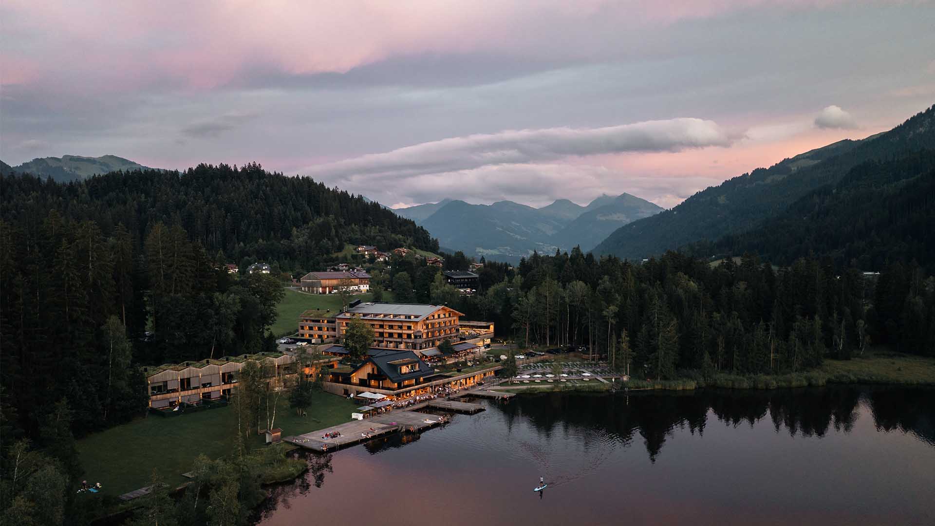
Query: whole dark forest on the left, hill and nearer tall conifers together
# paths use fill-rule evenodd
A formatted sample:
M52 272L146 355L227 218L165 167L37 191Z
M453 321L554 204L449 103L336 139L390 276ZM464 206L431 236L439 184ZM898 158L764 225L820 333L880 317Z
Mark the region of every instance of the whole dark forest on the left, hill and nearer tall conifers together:
M4 176L0 196L3 425L49 440L48 418L82 433L139 414L140 366L275 349L279 277L228 274L230 259L294 269L346 241L437 249L376 203L256 165Z

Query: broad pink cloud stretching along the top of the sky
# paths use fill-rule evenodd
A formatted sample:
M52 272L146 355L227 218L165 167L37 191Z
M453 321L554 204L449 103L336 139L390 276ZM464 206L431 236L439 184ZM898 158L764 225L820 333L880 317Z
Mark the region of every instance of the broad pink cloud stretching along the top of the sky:
M558 0L493 3L338 1L88 2L8 0L5 48L26 38L21 58L4 53L14 81L88 75L96 89L152 82L206 89L245 70L346 72L423 52L509 52L520 57L594 57L602 38L637 24L669 24L753 7L813 8L837 0ZM36 35L42 38L36 40ZM27 51L28 49L28 51ZM11 64L7 64L9 61ZM91 68L94 75L87 69ZM33 71L33 74L27 72ZM5 75L6 76L6 75ZM73 79L74 80L74 79ZM8 82L9 80L4 80ZM74 84L74 82L73 82Z

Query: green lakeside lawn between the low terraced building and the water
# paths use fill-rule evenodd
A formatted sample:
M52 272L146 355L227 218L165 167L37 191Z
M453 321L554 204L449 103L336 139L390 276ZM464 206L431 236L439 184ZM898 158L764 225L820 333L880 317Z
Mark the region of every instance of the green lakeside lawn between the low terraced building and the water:
M276 427L283 436L315 431L351 419L357 404L328 393L316 393L309 416L295 416L283 395L276 413ZM212 459L228 454L237 432L231 407L208 409L179 416L150 415L78 442L84 468L82 478L100 482L109 495L120 495L149 483L152 470L169 484L185 482L181 474L204 453ZM257 436L253 446L262 446Z

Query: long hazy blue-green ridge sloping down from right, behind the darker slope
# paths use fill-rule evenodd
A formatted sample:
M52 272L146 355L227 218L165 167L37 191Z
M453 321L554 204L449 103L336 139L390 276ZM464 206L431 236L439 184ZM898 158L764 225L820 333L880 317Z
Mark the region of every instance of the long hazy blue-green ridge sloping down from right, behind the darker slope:
M842 140L707 188L669 211L620 227L594 251L640 259L698 241L716 241L758 226L799 197L837 183L861 163L933 148L935 107L883 134Z

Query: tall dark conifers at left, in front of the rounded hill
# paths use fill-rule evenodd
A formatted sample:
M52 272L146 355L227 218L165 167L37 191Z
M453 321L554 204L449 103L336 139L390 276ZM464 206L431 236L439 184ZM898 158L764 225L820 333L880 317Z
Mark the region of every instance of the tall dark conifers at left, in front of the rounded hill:
M266 328L280 283L220 267L178 225L152 225L136 250L122 225L105 235L56 211L0 221L0 385L14 435L35 437L62 400L77 434L139 414L138 366L275 348Z

